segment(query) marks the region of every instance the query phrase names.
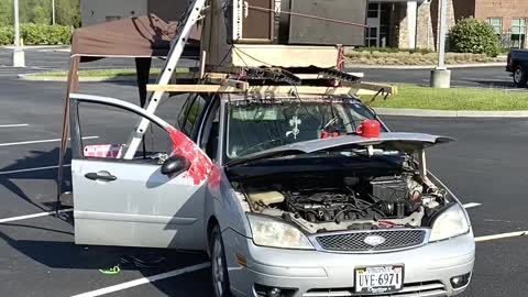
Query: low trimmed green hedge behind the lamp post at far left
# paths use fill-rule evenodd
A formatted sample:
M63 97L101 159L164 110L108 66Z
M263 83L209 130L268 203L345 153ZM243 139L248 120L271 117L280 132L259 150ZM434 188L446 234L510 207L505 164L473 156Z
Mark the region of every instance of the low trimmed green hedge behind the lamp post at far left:
M67 25L21 24L20 36L25 45L59 45L69 44L72 29ZM0 28L0 45L13 44L12 26Z

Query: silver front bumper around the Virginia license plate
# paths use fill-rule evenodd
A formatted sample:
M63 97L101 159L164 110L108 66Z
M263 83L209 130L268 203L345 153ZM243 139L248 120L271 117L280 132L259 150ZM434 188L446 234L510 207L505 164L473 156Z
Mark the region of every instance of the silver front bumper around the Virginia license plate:
M336 254L262 248L232 230L222 234L231 289L238 296L255 296L254 284L294 288L292 296L353 296L354 268L403 264L404 292L399 296L454 296L451 277L473 271L473 234L399 252ZM245 265L237 262L245 257ZM332 292L330 295L329 292ZM395 295L398 296L398 295Z

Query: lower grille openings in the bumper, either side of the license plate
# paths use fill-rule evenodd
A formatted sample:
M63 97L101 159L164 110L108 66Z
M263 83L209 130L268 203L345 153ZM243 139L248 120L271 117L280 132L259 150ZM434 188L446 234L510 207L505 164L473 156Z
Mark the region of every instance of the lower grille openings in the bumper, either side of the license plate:
M302 294L302 297L373 297L373 296L394 296L394 297L437 297L446 296L446 286L441 282L426 282L404 284L399 292L383 295L356 295L354 288L319 288L310 289Z

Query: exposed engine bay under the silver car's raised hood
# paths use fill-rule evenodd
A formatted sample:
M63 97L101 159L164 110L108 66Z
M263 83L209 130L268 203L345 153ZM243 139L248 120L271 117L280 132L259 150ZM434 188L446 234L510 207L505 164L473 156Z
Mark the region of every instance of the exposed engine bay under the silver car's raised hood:
M238 196L251 212L282 218L308 233L427 227L448 204L442 189L407 172L360 177L279 175L238 186Z

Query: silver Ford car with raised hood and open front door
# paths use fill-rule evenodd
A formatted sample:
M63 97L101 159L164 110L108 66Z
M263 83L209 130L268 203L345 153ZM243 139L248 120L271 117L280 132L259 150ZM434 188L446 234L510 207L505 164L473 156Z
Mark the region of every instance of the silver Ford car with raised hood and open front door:
M127 131L95 131L98 110ZM72 95L76 243L207 251L217 297L468 287L468 213L426 167L426 148L452 139L391 132L350 96L190 95L177 114ZM141 150L138 119L151 123Z

